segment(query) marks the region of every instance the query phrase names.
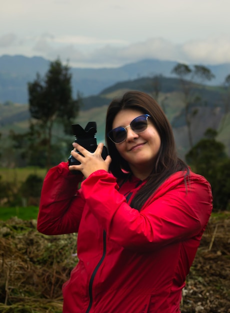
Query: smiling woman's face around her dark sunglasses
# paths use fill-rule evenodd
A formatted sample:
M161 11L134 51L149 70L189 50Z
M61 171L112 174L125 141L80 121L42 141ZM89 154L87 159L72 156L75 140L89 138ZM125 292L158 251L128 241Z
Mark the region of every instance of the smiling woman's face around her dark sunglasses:
M143 112L139 110L123 109L116 114L112 128L126 127L135 117L142 114ZM160 137L150 117L147 119L147 124L147 128L140 133L135 133L131 127L127 127L127 138L115 144L117 151L128 162L133 174L137 177L142 176L141 179L150 174L160 148Z

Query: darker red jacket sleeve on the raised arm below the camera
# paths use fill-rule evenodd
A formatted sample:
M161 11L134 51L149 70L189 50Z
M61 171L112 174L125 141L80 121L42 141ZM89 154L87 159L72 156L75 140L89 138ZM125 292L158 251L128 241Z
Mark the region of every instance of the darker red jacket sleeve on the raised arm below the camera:
M47 172L40 196L37 230L44 234L77 232L84 200L77 190L81 174L73 174L61 162Z

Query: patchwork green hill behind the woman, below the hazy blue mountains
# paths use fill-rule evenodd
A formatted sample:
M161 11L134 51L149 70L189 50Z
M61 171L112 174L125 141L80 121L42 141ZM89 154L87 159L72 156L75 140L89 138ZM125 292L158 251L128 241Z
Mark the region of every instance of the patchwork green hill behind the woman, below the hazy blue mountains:
M160 77L159 94L157 101L164 108L165 113L173 127L178 150L183 157L188 149L187 129L184 115L183 93L181 92L179 80L177 78ZM126 90L140 90L148 92L154 97L154 86L151 78L138 78L115 83L102 90L99 94L83 97L82 107L75 123L83 127L90 120L97 123L97 140L104 141L104 125L106 108L112 98L121 96ZM192 133L194 143L199 140L206 128L218 129L218 140L227 146L230 154L229 142L229 114L226 116L223 127L221 120L224 116L223 90L218 86L195 85L194 94L201 95L201 101L197 101L193 108L197 113L192 119ZM27 130L29 122L28 105L7 102L0 104L0 133L5 137L10 129L21 133ZM64 134L60 127L56 127L54 134L59 138ZM71 140L71 138L69 138Z

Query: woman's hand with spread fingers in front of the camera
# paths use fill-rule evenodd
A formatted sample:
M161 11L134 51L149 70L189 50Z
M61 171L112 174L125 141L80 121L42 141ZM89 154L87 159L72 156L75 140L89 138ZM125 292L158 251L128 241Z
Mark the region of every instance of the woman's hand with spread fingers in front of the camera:
M69 170L79 170L82 172L85 178L87 178L91 173L98 169L104 169L108 171L109 164L111 162L111 157L106 156L103 160L101 153L103 149L103 143L99 143L96 150L92 153L83 148L76 142L72 143L74 149L71 150L71 155L80 162L79 165L70 165ZM77 149L82 155L75 152Z

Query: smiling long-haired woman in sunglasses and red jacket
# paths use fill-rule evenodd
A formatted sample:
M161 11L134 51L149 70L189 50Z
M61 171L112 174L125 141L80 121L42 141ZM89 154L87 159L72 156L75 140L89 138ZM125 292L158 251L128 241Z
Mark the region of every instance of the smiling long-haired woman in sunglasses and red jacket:
M105 160L102 143L94 153L73 143L80 164L60 163L43 183L38 230L78 232L63 312L180 312L211 213L210 185L177 157L169 122L145 93L110 103L106 134Z

